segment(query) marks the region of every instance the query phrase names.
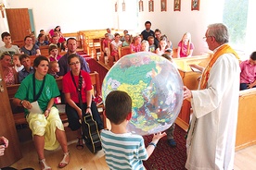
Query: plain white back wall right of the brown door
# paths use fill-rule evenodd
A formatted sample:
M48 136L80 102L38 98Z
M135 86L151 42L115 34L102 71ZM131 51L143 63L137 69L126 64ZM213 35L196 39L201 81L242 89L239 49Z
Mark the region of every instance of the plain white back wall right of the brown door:
M62 32L107 29L114 6L106 0L6 0L9 8L32 9L36 34L61 26Z

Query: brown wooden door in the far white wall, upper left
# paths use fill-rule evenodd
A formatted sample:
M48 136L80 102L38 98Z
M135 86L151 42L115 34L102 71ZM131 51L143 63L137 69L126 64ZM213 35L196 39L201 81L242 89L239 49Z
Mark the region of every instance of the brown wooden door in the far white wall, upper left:
M6 9L6 17L12 40L24 40L32 32L28 8Z

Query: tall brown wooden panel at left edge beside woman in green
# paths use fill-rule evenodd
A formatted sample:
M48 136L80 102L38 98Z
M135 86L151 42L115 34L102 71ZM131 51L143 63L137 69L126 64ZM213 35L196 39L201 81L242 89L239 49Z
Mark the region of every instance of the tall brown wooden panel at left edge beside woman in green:
M19 146L19 138L14 124L14 119L9 103L9 97L4 83L2 67L0 65L0 136L6 137L9 140L9 146L6 148L5 155L0 157L0 168L14 164L21 157Z

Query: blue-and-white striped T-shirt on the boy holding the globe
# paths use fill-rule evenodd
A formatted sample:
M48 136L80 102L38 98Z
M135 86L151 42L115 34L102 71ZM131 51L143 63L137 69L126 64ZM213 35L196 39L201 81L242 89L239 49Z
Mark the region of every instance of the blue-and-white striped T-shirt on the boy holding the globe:
M142 136L132 133L114 134L109 130L102 130L100 136L110 169L145 169L142 161L147 160L148 155Z

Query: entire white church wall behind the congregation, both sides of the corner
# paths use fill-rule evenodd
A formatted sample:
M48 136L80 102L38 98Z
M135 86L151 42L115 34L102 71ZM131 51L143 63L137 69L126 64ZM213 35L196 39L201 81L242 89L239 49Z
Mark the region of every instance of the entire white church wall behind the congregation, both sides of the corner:
M222 20L222 0L201 0L199 11L191 11L191 0L181 1L181 11L173 11L173 0L167 0L167 11L160 12L160 0L154 1L154 12L148 12L148 0L143 0L144 11L138 12L139 0L0 0L6 1L7 8L31 8L36 33L61 26L62 32L96 29L127 29L141 32L147 20L152 22L152 30L160 29L176 47L183 34L189 31L195 44L194 55L208 51L202 37L207 25ZM118 12L115 12L115 3ZM138 18L138 19L137 19ZM2 24L4 23L4 24ZM4 25L4 27L2 27ZM6 31L6 18L0 18L0 32Z

